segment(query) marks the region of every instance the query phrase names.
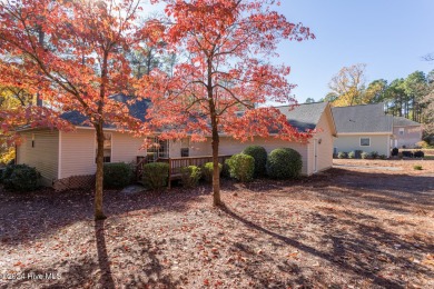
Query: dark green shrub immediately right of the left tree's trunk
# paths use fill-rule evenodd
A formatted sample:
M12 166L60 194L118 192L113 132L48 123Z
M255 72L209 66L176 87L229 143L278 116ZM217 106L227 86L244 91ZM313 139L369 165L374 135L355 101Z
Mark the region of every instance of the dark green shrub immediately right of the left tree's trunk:
M110 162L103 165L103 188L121 189L131 181L132 168L125 162Z

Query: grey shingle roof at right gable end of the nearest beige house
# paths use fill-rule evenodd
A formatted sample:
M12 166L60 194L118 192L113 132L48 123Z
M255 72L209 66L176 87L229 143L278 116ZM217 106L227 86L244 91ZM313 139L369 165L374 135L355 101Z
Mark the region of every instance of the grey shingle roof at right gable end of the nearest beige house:
M289 106L276 107L298 131L315 129L328 102L304 103L289 110Z

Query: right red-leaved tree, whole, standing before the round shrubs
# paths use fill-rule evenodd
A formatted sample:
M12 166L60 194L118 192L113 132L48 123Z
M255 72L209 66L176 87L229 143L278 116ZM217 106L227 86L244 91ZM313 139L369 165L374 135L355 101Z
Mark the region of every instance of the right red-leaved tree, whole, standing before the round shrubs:
M277 109L258 108L267 100L294 103L287 66L273 66L282 40L314 38L273 10L270 0L166 0L172 19L166 42L179 51L171 78L160 76L151 96L149 119L165 128L161 138L211 137L214 205L221 205L218 172L219 133L241 141L253 137L306 141ZM278 3L277 3L278 4ZM239 111L244 111L239 117Z

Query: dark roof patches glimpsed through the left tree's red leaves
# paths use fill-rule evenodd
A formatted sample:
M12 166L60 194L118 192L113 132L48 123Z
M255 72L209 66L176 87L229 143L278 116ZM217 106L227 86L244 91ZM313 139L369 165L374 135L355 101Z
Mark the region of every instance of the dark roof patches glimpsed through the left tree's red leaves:
M127 103L128 100L134 99L134 97L126 96L124 93L114 94L110 97L111 99ZM148 99L139 100L134 102L132 104L128 104L130 116L137 118L141 121L145 121L146 110L149 108L150 101ZM86 121L88 118L81 114L79 111L68 111L60 116L62 119L68 120L73 126L80 127L89 127ZM110 123L105 123L105 128L114 128Z

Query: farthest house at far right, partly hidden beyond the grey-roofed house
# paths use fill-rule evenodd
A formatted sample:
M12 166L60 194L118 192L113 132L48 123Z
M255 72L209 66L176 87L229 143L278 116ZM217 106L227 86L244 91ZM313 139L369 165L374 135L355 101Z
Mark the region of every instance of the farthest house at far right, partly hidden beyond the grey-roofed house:
M393 148L414 148L422 140L422 124L403 118L393 118Z

